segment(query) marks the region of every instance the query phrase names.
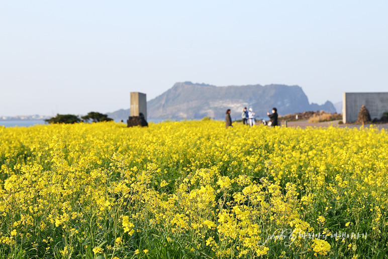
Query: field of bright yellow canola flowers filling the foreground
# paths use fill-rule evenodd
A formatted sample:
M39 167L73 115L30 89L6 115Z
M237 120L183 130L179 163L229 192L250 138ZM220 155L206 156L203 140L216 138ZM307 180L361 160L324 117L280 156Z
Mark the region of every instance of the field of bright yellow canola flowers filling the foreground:
M384 130L0 127L0 258L383 258Z

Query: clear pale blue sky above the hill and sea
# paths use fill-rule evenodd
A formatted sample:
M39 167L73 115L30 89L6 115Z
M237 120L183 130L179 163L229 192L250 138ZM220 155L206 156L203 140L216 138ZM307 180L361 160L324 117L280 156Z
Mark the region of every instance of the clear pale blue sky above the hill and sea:
M388 1L0 2L0 116L128 109L175 82L387 92Z

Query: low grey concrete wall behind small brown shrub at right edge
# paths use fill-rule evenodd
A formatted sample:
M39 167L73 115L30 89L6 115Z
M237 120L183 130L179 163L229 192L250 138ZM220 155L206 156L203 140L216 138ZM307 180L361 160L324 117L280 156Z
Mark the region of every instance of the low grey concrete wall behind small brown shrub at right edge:
M370 118L380 119L388 112L388 93L343 93L342 121L355 122L362 105L369 111Z

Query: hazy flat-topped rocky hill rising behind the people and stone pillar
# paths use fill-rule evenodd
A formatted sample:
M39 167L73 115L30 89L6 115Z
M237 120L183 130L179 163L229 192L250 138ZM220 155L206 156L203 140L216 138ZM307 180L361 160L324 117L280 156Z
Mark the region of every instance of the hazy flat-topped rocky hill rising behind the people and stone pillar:
M308 98L298 85L243 85L215 87L209 84L178 82L162 95L147 102L148 119L201 119L205 116L221 119L227 109L232 118L240 119L244 107L253 108L256 117L266 117L272 107L279 115L324 110L334 113L333 104L309 104ZM127 119L128 110L108 113L114 119Z

